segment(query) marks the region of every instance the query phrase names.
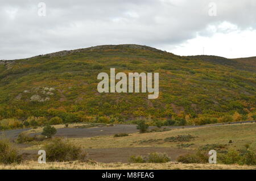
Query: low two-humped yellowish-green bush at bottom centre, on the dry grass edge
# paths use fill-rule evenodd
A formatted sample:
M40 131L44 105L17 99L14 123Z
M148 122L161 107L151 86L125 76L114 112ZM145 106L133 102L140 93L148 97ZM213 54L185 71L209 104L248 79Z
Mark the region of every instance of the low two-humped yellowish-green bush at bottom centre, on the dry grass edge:
M144 157L132 155L129 159L131 163L166 163L171 159L162 153L150 153Z

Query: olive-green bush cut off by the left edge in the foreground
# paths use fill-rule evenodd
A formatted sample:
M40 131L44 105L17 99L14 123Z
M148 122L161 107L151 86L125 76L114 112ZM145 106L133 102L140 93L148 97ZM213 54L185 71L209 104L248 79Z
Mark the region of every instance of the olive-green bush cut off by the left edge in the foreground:
M13 147L9 140L0 140L0 163L9 165L12 163L21 163L22 155Z

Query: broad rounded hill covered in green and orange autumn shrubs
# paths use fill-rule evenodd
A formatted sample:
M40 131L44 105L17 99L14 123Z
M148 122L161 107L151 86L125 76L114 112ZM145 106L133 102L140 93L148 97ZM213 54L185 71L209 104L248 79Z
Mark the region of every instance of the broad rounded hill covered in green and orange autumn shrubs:
M97 75L109 74L110 68L159 73L159 98L147 99L147 93L98 93ZM12 120L0 125L10 127L12 121L11 127L18 127L30 116L58 116L65 123L137 117L172 118L177 124L250 120L255 115L255 72L255 58L184 57L131 44L1 61L0 120Z

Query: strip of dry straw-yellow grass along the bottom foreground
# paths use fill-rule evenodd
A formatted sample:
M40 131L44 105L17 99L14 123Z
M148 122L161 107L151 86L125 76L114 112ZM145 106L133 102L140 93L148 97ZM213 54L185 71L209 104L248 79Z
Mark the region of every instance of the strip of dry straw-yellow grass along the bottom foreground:
M34 161L27 161L21 165L9 165L4 166L0 165L0 169L11 169L11 170L122 170L122 169L136 169L136 170L256 170L256 166L241 166L241 165L210 165L210 164L183 164L177 162L169 162L169 163L82 163L82 162L48 162L46 164L39 164Z

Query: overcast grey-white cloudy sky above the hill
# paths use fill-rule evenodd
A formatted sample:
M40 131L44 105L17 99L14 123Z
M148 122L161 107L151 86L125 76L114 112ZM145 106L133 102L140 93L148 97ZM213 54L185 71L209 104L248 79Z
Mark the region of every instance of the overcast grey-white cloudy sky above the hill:
M104 44L256 56L255 0L0 0L0 24L0 60Z

